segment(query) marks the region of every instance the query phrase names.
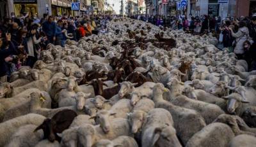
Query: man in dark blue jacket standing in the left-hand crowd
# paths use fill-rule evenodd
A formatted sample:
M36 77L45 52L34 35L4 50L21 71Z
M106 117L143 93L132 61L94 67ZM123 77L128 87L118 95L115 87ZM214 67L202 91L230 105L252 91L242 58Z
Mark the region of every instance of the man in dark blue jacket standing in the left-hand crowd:
M56 40L56 24L55 22L53 22L52 16L49 16L48 21L44 22L44 24L42 25L42 29L45 35L47 36L46 45L48 45L49 43L54 44Z

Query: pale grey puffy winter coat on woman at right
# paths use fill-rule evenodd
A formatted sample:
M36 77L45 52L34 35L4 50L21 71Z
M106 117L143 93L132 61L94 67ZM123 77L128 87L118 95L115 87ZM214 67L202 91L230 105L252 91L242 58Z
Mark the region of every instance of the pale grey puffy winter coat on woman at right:
M234 53L243 54L244 53L244 41L248 39L249 30L247 27L241 27L238 29L236 33L231 31L231 34L234 38L236 38L236 47L234 49Z

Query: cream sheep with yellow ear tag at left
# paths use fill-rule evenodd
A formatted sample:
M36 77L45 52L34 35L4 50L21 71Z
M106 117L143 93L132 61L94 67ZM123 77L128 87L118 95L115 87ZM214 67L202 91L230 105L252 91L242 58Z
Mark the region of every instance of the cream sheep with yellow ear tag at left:
M37 104L35 104L35 99L40 101L40 107L42 108L51 108L51 97L47 92L37 92L38 97L30 97L29 101L22 102L17 106L13 106L8 109L4 115L3 122L10 120L17 116L26 115L28 113L34 113Z

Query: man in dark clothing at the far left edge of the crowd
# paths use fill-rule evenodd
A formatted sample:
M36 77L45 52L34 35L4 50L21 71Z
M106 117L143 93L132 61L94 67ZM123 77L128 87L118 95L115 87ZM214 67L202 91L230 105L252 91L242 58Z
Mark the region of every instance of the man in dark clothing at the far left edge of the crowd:
M10 55L13 55L16 53L15 46L11 41L11 34L6 33L5 40L2 36L0 36L0 84L7 81L7 76L6 76L8 72L7 62L12 61L13 58L10 57Z

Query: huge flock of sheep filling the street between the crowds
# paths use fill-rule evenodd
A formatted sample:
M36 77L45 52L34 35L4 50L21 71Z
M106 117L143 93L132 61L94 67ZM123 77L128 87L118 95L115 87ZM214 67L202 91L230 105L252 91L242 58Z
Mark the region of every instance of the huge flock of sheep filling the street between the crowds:
M0 146L256 144L256 71L216 38L113 20L0 85Z

